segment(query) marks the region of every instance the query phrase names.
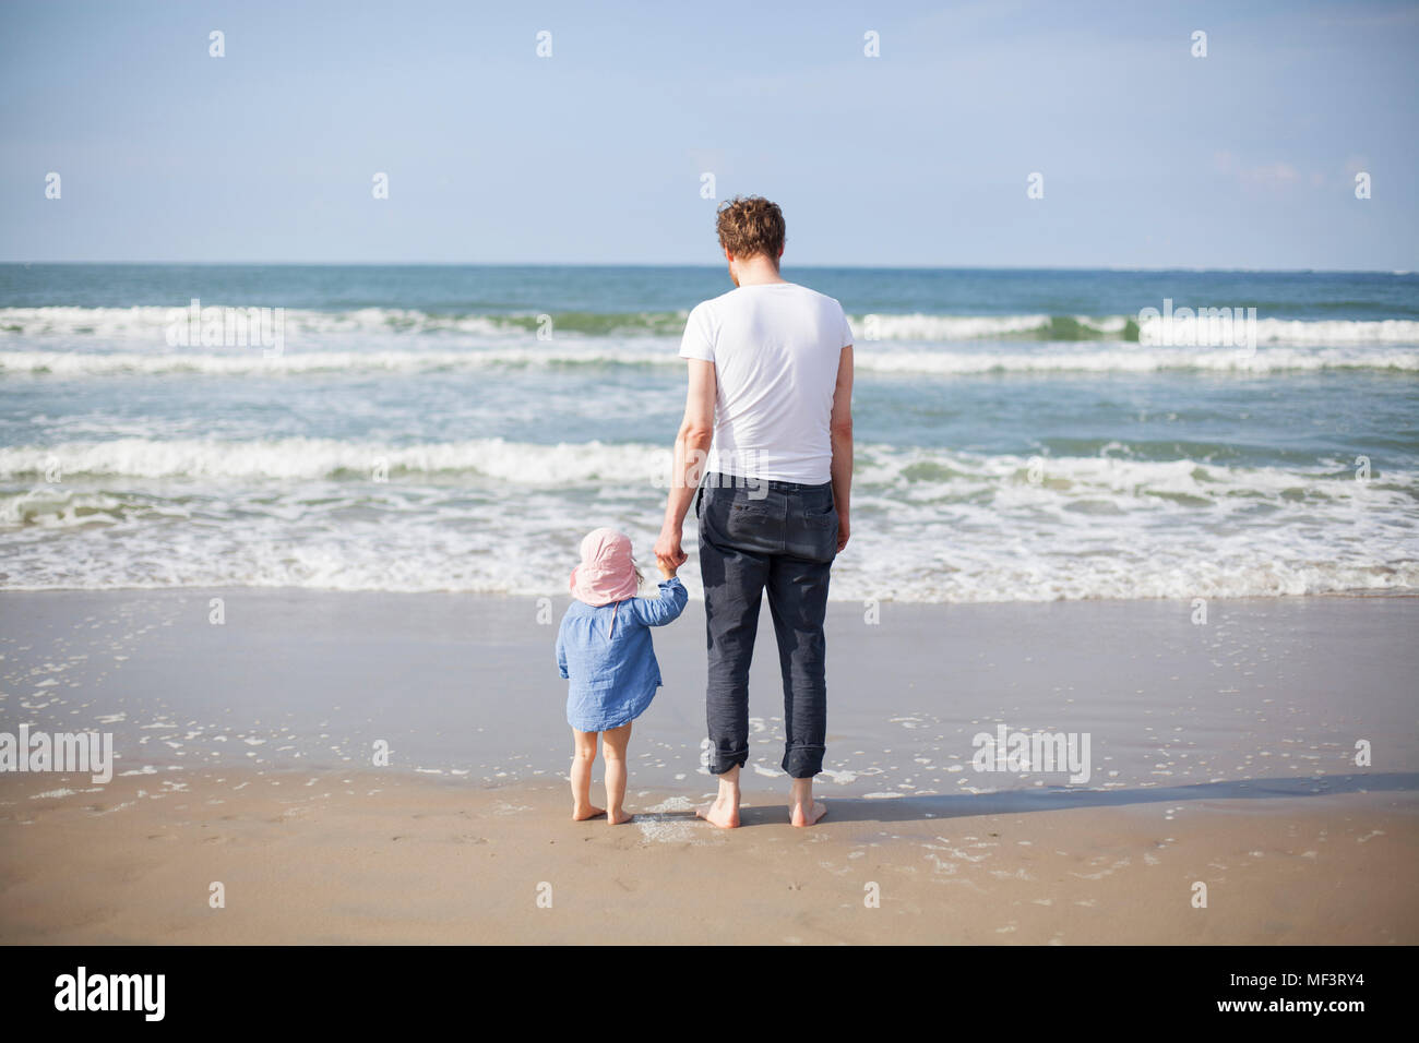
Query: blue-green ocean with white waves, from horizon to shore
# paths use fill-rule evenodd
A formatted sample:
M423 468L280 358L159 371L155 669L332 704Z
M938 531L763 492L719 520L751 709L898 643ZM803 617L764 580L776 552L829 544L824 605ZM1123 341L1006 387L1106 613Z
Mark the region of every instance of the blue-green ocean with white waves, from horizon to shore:
M1415 274L783 274L858 341L837 600L1419 586ZM729 288L722 267L0 265L0 585L561 596L597 525L650 566L680 333ZM1185 308L1230 318L1145 311Z

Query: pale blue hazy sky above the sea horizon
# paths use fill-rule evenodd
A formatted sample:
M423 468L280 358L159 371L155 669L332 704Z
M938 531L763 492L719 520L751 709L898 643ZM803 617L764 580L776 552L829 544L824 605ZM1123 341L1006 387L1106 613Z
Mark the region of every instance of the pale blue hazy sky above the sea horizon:
M3 1L0 260L715 264L745 193L796 265L1410 271L1416 64L1358 0Z

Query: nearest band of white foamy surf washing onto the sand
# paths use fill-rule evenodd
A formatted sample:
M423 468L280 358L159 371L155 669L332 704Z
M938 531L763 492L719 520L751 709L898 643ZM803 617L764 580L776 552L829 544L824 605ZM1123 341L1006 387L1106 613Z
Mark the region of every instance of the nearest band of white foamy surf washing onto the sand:
M1244 597L1419 589L1419 474L858 443L839 600ZM383 460L390 480L373 482ZM16 589L565 593L595 517L646 555L653 444L118 438L0 450ZM40 475L57 463L65 480ZM1032 481L1036 477L1037 481ZM508 511L508 498L517 511ZM200 525L194 519L200 518ZM298 536L297 536L298 534ZM685 549L695 555L694 522ZM681 570L698 596L694 561ZM647 590L647 593L651 593ZM907 722L902 722L907 724ZM766 727L766 725L765 725Z

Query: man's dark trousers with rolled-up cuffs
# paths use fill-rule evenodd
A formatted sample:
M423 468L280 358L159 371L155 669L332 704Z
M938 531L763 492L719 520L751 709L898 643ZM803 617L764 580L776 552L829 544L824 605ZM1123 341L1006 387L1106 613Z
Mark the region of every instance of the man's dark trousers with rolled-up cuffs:
M722 775L749 759L749 660L768 589L783 671L783 771L812 779L823 771L827 732L823 616L837 556L833 485L744 481L707 474L695 497L710 644L710 771Z

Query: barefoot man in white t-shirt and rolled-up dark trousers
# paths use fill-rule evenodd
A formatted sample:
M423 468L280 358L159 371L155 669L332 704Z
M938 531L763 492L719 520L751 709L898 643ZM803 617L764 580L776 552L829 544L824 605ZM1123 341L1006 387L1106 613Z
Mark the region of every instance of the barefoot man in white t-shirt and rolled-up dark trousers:
M656 556L673 568L685 562L680 541L694 501L710 771L719 776L717 799L698 815L724 829L739 824L749 660L768 590L783 673L789 820L812 826L826 812L813 799L813 776L823 771L827 729L827 580L849 534L853 332L837 301L779 275L785 228L775 203L728 200L718 233L735 289L695 307L685 324L690 396Z

